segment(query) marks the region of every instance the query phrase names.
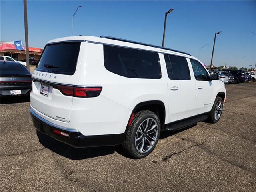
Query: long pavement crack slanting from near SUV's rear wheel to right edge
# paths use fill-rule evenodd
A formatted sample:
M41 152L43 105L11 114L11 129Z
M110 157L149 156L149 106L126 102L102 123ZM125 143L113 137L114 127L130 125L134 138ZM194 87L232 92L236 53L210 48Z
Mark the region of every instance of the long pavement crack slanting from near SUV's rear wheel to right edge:
M188 142L191 142L191 143L194 143L195 146L198 146L200 147L204 152L207 152L217 158L219 158L220 160L224 161L224 162L227 162L228 164L232 165L232 166L235 166L235 167L238 167L246 172L249 172L251 174L253 174L254 176L256 176L256 173L252 170L249 170L248 168L246 168L244 165L241 165L241 164L237 164L236 162L232 162L230 160L227 160L226 158L222 157L222 156L219 156L217 155L216 153L214 153L212 150L210 150L209 148L203 146L203 144L198 144L197 142L193 141L193 140L190 140L188 138L182 138L182 137L179 137L177 135L175 135L177 138L180 138L181 140L186 140Z

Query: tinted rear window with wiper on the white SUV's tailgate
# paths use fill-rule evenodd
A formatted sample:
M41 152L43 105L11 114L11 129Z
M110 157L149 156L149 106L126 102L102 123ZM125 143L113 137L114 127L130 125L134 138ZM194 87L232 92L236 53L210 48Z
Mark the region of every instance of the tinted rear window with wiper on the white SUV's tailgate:
M80 45L81 42L46 45L36 70L73 75L76 70Z

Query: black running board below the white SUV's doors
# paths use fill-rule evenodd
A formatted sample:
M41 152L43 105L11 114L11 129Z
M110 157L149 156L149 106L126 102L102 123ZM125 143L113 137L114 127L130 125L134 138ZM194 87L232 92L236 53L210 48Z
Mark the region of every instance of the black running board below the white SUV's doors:
M188 127L190 125L196 124L197 122L204 121L206 119L208 119L207 115L200 115L200 116L188 118L188 119L185 119L185 120L181 120L181 121L178 121L178 122L167 124L165 130L166 131L175 131L175 130L185 128L185 127Z

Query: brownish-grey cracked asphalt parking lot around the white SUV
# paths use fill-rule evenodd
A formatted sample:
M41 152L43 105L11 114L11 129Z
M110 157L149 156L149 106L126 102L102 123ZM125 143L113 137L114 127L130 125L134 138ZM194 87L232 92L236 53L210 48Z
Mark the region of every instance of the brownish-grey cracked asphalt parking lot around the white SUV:
M164 133L150 156L72 148L36 132L29 98L1 99L1 191L256 191L256 83L226 85L217 124Z

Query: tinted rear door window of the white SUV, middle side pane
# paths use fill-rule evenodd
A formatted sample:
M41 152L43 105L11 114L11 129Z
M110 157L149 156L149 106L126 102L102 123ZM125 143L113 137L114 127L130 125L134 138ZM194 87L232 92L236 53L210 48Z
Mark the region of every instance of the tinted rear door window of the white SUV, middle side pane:
M172 80L190 80L190 72L186 58L164 54L168 77Z

